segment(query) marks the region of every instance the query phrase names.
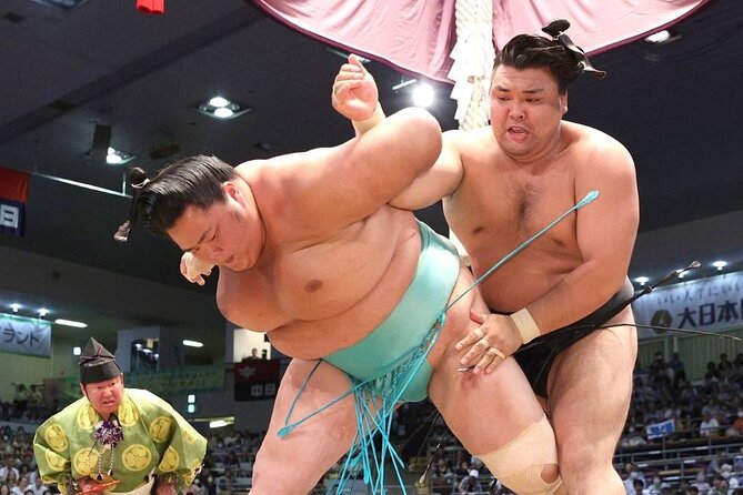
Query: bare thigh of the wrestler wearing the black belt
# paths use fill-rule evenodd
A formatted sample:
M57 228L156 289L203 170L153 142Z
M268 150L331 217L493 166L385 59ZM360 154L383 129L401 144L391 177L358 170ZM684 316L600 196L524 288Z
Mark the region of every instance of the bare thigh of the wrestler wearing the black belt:
M563 455L611 462L630 407L636 354L636 331L621 326L592 333L555 360L548 408L563 471Z

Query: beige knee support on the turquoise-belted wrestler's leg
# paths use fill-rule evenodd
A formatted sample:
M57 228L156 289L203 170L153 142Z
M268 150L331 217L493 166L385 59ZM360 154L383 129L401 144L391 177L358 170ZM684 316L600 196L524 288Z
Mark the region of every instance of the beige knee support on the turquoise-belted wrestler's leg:
M478 455L502 484L520 495L551 495L560 487L542 479L542 468L558 464L554 432L546 416L521 432L503 447L490 454Z

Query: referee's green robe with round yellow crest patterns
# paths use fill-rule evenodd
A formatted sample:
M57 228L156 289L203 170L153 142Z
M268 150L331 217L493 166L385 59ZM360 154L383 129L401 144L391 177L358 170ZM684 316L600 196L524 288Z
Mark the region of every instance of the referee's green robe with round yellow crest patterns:
M123 441L113 451L111 493L127 493L148 483L149 475L175 483L179 492L191 485L207 452L201 436L170 404L157 395L124 388L117 416ZM47 420L33 437L33 453L44 483L56 483L63 495L71 479L96 478L111 466L111 451L93 446L93 427L102 421L87 397Z

